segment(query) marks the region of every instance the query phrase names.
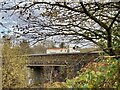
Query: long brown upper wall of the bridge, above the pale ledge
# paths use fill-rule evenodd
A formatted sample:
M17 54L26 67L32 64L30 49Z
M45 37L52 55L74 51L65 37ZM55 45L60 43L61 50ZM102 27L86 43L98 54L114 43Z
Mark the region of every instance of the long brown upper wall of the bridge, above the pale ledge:
M88 61L96 58L98 53L64 53L64 54L32 54L29 55L29 65L74 65L79 61Z

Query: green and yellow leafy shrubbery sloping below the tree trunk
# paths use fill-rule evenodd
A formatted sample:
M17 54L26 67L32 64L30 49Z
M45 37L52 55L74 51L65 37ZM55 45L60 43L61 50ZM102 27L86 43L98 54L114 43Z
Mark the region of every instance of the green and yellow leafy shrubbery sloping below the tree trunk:
M118 67L116 59L107 59L99 63L89 64L81 70L79 76L66 80L68 88L117 88Z

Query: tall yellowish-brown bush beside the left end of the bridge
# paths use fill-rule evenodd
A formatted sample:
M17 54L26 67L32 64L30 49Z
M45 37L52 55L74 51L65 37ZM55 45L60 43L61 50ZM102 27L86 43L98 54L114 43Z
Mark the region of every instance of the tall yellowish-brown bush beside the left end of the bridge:
M26 82L26 59L27 57L19 56L20 47L12 47L9 42L4 43L3 67L2 67L2 85L3 88L20 88L27 85Z

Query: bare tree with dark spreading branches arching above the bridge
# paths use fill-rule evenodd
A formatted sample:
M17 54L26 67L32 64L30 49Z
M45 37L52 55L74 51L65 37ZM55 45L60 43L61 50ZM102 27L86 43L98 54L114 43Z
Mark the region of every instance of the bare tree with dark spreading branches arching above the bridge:
M115 55L120 41L120 2L19 2L1 10L13 11L26 22L14 26L19 36L38 41L54 37L65 41L90 41ZM57 38L57 40L59 40Z

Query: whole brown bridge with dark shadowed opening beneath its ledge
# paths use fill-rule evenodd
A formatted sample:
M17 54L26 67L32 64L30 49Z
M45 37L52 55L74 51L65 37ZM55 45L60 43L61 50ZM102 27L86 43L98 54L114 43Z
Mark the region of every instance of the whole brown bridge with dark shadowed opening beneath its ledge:
M60 53L28 55L29 84L64 81L72 78L89 61L98 57L98 53Z

